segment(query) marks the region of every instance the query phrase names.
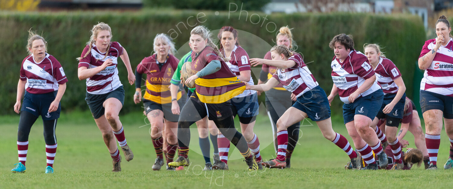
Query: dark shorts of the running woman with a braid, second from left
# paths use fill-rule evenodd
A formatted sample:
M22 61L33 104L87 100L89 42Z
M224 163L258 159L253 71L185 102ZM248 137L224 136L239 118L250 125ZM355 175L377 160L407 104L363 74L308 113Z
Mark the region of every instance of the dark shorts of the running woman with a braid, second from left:
M88 107L90 107L90 111L94 119L98 119L102 115L104 115L106 110L104 108L104 101L106 101L108 98L116 98L121 102L121 105L124 105L123 86L121 85L115 90L107 92L105 94L91 94L87 92L87 97L85 97L85 101L87 101Z

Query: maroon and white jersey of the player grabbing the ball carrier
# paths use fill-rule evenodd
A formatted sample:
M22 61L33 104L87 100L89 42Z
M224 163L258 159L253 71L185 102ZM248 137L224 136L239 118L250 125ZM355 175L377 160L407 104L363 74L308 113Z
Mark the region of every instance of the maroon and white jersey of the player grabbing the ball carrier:
M292 92L296 97L300 97L319 85L300 55L292 55L288 60L293 60L296 65L287 69L277 69L272 75L283 84L283 88Z

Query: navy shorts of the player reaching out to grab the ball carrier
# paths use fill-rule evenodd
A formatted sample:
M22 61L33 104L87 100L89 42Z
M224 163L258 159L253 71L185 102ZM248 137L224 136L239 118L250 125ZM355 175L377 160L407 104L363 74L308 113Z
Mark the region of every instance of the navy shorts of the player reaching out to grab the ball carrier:
M305 112L313 121L321 121L330 117L329 100L326 92L319 86L297 97L293 107Z

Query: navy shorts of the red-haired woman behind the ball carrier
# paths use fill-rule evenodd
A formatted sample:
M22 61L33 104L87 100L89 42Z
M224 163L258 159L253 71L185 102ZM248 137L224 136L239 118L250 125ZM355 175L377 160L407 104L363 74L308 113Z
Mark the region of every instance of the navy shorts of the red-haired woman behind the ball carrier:
M231 110L233 115L241 117L253 117L258 115L258 94L251 94L245 97L231 98Z

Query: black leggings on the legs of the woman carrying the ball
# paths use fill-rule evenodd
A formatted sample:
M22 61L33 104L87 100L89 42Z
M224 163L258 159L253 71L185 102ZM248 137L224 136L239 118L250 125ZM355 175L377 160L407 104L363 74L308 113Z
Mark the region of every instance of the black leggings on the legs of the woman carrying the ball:
M190 125L207 116L206 107L202 103L189 100L181 110L178 121L178 145L188 147L190 143ZM222 120L213 120L220 132L236 146L241 153L247 152L246 139L234 127L233 116L227 116Z

